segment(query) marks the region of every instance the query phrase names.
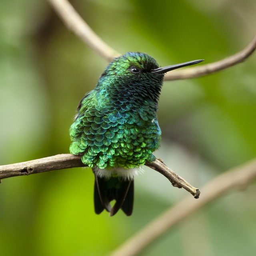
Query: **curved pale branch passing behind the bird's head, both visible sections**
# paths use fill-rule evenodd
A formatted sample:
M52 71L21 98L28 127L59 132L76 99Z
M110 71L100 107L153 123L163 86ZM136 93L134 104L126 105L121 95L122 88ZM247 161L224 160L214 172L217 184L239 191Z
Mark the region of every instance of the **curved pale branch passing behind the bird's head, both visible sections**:
M110 46L108 46L102 39L95 34L95 32L88 26L88 24L81 18L81 16L74 10L73 6L67 0L48 0L66 26L72 30L78 37L80 37L86 44L88 44L95 52L102 58L111 62L113 58L121 55ZM194 67L184 68L182 70L173 70L165 75L165 80L180 80L205 76L214 72L224 70L243 62L256 49L256 36L253 40L242 50L228 58L213 62L210 64Z

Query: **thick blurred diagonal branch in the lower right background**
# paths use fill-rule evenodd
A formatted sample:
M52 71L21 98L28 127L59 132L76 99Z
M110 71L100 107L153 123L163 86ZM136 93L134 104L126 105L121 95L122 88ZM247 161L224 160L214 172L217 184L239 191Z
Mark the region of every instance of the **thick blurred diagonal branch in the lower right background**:
M244 189L256 179L256 159L238 166L232 170L220 174L202 188L202 194L198 200L186 197L164 214L154 219L145 228L129 238L118 247L110 256L134 256L138 255L153 240L179 224L196 210L212 200L234 189ZM195 234L196 235L196 234Z

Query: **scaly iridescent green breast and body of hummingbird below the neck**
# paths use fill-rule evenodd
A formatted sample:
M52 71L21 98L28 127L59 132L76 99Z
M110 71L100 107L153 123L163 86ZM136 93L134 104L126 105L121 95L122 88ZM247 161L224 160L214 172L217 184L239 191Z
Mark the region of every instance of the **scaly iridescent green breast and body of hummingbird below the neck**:
M82 162L99 168L136 168L154 160L159 147L157 106L143 98L93 90L81 102L70 127L70 152Z

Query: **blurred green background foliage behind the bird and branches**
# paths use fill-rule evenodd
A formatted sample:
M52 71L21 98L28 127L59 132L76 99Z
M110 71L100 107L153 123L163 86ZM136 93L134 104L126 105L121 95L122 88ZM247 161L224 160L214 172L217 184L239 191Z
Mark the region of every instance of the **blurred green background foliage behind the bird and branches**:
M120 53L161 66L238 52L256 27L255 0L76 0L93 30ZM43 0L0 1L0 164L68 153L82 96L107 65ZM256 56L202 78L165 82L156 156L194 186L256 155ZM135 180L131 217L93 209L93 175L74 168L2 180L0 255L98 256L187 196L151 169ZM140 255L251 256L256 184L208 204Z

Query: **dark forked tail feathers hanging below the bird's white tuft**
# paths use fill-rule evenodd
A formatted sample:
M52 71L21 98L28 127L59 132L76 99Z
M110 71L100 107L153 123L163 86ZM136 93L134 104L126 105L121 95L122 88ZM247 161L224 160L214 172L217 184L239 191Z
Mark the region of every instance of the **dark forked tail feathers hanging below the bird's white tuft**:
M123 212L130 216L133 208L134 181L124 181L118 178L100 178L95 175L94 183L94 209L96 214L100 214L104 209L114 216L121 208ZM110 202L116 200L113 208Z

